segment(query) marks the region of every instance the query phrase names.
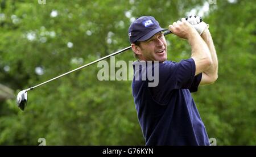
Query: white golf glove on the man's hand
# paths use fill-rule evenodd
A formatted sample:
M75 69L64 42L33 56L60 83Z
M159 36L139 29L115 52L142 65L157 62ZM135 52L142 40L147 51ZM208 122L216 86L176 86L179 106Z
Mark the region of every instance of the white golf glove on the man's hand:
M209 28L209 24L206 24L205 22L200 22L199 16L189 16L187 21L192 24L192 26L196 29L196 31L201 35L204 32L205 28Z

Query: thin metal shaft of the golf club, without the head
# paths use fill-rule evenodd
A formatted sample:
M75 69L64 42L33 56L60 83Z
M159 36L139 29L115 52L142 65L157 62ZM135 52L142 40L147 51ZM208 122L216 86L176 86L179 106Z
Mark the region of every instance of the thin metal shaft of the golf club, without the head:
M166 35L168 35L168 34L170 34L170 33L171 33L171 31L166 31L166 32L164 32L164 36L166 36ZM86 65L77 67L77 69L68 71L68 72L65 73L65 74L62 74L62 75L59 75L59 76L57 76L57 77L55 77L55 78L49 79L49 80L47 80L46 82L40 83L40 84L38 84L38 85L36 85L36 86L34 86L34 87L30 87L30 88L28 88L26 91L33 90L34 88L37 88L37 87L39 87L39 86L42 86L43 84L46 84L46 83L48 83L48 82L51 82L52 80L55 80L55 79L64 77L65 75L68 75L68 74L70 74L70 73L73 73L73 72L75 72L75 71L77 71L77 70L80 70L80 69L86 67L86 66L92 65L93 63L97 63L97 62L99 62L99 61L105 60L106 58L109 58L109 57L111 57L111 56L115 56L116 54L125 52L126 50L129 50L129 49L131 49L131 46L128 46L127 48L121 49L121 50L119 50L119 51L117 51L117 52L114 52L114 53L112 53L112 54L109 54L108 56L105 56L105 57L102 57L102 58L100 58L100 59L98 59L98 60L95 60L95 61L93 61L93 62L90 62L90 63L88 63L88 64L86 64Z

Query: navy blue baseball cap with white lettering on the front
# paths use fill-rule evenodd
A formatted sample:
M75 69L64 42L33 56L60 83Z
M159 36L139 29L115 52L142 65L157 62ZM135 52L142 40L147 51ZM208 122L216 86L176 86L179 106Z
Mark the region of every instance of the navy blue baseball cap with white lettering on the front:
M167 30L168 29L161 28L154 17L141 16L131 23L128 36L130 43L135 43L136 41L148 40L156 33Z

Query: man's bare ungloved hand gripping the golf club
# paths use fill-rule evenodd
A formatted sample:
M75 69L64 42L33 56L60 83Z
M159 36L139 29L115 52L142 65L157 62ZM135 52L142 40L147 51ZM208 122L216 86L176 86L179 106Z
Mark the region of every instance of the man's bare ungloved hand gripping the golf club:
M197 33L196 29L193 28L193 26L189 22L187 22L185 18L182 18L181 21L178 20L172 25L169 25L169 29L176 36L179 36L183 39L189 39L192 34Z

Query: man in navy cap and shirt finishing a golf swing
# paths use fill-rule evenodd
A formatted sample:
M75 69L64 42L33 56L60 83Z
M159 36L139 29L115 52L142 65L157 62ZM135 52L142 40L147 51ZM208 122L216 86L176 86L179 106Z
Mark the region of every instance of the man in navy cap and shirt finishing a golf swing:
M131 23L129 40L141 62L159 61L158 86L148 79L133 80L133 97L146 145L210 145L207 131L191 92L217 80L217 56L207 24L198 17L184 18L169 26L170 31L188 41L191 58L180 62L167 60L163 29L152 16ZM140 72L134 68L134 74Z

